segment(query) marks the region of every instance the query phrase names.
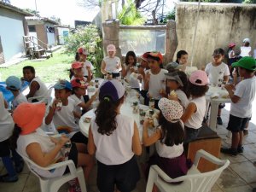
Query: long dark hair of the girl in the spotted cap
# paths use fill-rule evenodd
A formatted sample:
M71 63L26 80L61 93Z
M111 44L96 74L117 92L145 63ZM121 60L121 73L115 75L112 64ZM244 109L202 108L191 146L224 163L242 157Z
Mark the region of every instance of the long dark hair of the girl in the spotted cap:
M166 120L166 118L160 112L159 124L162 131L160 143L164 143L166 146L170 147L172 147L174 144L178 145L183 143L185 132L180 121L172 123Z

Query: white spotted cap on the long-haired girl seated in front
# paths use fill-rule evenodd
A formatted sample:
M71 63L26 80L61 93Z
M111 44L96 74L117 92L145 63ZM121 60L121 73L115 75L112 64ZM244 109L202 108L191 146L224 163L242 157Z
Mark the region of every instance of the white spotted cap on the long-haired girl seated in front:
M173 123L180 119L183 115L183 107L179 102L174 100L161 98L158 102L158 107L160 108L166 120Z

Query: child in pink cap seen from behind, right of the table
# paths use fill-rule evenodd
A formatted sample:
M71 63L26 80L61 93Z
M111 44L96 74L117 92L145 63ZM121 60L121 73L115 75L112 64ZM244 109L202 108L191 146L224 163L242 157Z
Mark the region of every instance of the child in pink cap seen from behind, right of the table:
M191 100L189 100L189 104L181 117L185 125L186 139L184 143L189 143L190 141L195 140L199 134L207 109L207 101L205 97L208 90L207 84L207 73L201 70L191 73L189 78Z

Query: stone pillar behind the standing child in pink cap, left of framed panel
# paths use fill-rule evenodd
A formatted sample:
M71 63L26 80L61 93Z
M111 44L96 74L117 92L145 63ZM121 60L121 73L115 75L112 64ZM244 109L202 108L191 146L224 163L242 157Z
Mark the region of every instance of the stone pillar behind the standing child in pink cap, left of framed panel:
M114 44L116 47L116 56L122 58L121 49L119 48L119 20L108 20L102 22L102 27L104 56L108 55L108 44Z

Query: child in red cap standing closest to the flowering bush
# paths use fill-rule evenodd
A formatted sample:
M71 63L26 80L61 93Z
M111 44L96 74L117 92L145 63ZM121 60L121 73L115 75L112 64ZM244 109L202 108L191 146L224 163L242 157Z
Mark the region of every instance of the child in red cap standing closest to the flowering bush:
M91 72L93 71L94 67L91 64L90 61L86 60L87 59L87 55L89 54L88 51L86 49L84 49L83 47L80 47L78 49L77 54L79 55L79 62L82 62L82 71L83 71L83 76L85 78L89 78L89 73L91 75ZM88 70L90 69L90 71Z

